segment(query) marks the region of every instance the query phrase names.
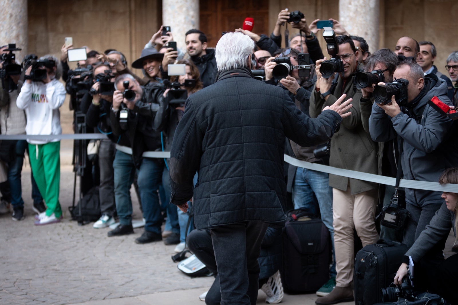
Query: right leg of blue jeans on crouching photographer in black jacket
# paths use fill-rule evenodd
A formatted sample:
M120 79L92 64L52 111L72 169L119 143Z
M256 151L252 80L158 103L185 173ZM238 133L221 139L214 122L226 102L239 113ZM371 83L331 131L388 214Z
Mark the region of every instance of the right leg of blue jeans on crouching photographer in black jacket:
M145 231L161 234L162 215L158 188L163 166L153 158L143 158L137 170L138 191L142 201Z

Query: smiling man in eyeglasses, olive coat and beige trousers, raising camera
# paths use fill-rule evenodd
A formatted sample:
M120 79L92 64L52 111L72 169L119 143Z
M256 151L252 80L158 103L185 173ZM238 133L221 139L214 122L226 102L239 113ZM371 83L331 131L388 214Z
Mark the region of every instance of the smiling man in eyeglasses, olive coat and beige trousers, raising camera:
M340 169L377 174L376 143L364 130L360 105L354 102L361 98L361 90L356 89L354 84L354 73L362 69L357 61L359 51L349 36L338 36L336 41L338 54L335 57L342 60L344 71L324 78L320 73L323 60L316 61L317 80L310 98L310 116L314 118L319 115L324 107L334 103L344 93L347 98L353 98L351 115L342 120L339 131L331 139L329 164ZM374 244L378 239L374 221L378 185L329 174L329 186L333 188L337 276L335 288L326 296L318 298L316 304L336 304L353 300L353 230L356 229L363 245Z

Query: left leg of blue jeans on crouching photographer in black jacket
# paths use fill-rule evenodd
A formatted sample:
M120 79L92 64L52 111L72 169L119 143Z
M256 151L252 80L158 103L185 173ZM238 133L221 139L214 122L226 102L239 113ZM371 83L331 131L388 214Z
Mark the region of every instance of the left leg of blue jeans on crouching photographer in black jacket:
M116 150L113 161L114 202L119 223L132 224L131 185L134 182L135 165L132 156Z

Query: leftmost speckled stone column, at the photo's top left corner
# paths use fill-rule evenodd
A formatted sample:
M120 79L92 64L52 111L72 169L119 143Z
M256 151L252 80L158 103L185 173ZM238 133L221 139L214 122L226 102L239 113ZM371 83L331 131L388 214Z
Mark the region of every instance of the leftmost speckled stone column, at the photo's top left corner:
M21 62L27 54L27 0L0 0L0 44L16 44L15 52Z

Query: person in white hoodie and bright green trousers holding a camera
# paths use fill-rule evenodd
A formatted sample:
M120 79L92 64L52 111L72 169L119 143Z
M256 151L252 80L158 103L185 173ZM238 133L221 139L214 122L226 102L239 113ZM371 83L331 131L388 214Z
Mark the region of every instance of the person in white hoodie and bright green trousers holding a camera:
M27 135L60 135L59 107L65 100L65 88L58 81L57 59L44 56L43 64L38 69L46 70L46 77L40 81L31 78L32 65L25 72L25 83L17 97L16 104L25 109L27 116ZM35 225L56 223L62 217L59 203L60 182L60 141L52 139L27 139L33 177L46 202L47 209L38 215Z

